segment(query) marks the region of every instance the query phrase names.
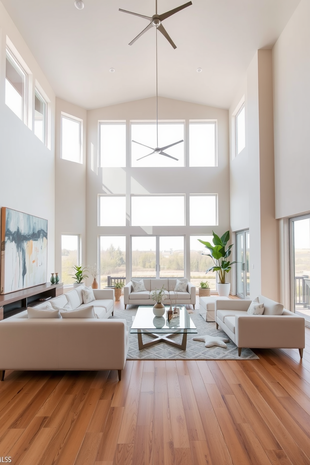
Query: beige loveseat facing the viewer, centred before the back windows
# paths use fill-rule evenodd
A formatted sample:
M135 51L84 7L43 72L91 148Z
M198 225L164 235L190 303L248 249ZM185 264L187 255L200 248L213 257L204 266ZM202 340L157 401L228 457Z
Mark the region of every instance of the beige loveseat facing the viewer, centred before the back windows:
M133 278L135 281L141 278ZM178 278L180 281L187 279ZM152 299L152 292L155 289L161 289L165 286L166 299L172 299L173 303L177 297L177 304L192 305L195 308L196 303L196 287L190 282L187 283L186 292L174 292L177 285L176 278L142 278L146 291L133 292L132 281L124 286L124 304L127 305L154 305L156 302ZM165 304L165 300L163 301Z

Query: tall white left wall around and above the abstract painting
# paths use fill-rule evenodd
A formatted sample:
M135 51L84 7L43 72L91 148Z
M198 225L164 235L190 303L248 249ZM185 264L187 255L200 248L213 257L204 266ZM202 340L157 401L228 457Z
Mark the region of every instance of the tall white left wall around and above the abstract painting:
M30 70L30 113L26 126L5 105L7 36ZM49 100L49 147L33 132L32 107L37 80ZM48 220L47 279L54 272L54 129L55 94L25 41L0 3L0 207L6 206Z

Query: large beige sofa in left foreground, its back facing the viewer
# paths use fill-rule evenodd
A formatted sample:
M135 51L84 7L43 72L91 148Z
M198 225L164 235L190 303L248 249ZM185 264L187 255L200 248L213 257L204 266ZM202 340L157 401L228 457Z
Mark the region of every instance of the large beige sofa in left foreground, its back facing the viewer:
M0 321L0 379L5 370L118 370L120 380L129 328L125 319L108 319L114 308L108 299L112 292L94 291L107 299L79 305L94 304L99 319L28 319L25 310ZM79 291L71 291L49 302L61 306L70 301L74 306L77 295Z

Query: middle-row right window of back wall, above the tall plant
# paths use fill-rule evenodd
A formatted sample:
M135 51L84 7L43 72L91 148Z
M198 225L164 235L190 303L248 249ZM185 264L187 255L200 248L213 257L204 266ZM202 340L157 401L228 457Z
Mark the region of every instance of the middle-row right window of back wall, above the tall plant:
M190 195L190 226L217 224L217 195Z

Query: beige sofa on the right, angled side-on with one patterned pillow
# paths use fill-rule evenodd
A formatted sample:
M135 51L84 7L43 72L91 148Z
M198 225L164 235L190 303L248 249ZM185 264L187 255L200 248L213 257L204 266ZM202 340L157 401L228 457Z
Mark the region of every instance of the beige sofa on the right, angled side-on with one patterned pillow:
M238 347L294 348L303 357L305 346L304 318L283 308L282 304L258 296L264 304L263 315L248 315L251 300L215 301L216 326L220 326Z

